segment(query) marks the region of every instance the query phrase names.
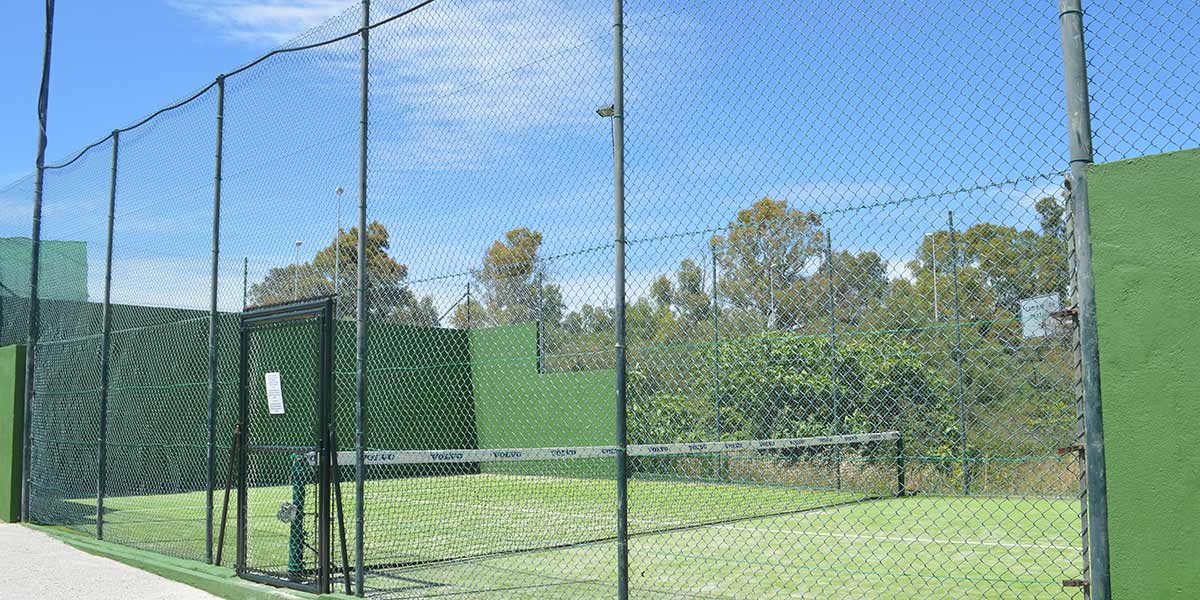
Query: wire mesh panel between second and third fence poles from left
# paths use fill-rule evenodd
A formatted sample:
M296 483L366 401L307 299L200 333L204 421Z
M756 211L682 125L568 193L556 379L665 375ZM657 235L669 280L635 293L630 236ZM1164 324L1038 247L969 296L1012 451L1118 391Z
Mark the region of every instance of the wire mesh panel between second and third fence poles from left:
M104 538L196 560L206 558L215 91L118 138L104 397Z

